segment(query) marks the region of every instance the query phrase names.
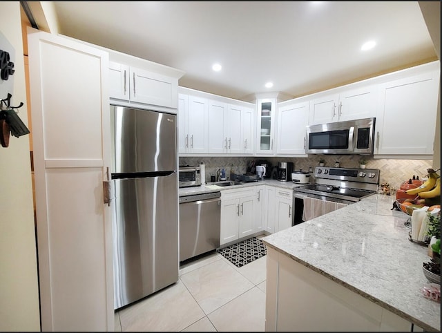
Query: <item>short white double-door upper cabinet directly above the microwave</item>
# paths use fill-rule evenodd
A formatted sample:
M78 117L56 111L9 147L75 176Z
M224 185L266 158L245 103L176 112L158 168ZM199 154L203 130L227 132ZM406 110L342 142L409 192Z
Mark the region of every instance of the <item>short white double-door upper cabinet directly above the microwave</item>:
M353 88L352 88L353 87ZM376 115L375 84L354 84L333 89L333 92L318 93L311 97L309 124L343 122Z

